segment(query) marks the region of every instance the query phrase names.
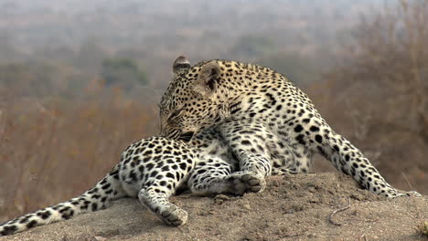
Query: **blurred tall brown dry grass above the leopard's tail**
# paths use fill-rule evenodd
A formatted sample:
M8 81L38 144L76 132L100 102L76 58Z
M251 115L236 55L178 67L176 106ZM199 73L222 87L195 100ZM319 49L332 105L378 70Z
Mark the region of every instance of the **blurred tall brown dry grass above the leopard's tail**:
M0 111L0 221L84 192L128 144L157 131L153 105L120 92L80 101L9 99Z

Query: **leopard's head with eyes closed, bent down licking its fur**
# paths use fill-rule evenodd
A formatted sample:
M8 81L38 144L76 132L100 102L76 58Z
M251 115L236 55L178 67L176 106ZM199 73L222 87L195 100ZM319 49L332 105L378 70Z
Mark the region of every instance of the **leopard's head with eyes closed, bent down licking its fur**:
M173 79L159 103L162 136L188 141L228 117L230 89L220 86L223 69L219 60L191 66L185 57L176 59Z

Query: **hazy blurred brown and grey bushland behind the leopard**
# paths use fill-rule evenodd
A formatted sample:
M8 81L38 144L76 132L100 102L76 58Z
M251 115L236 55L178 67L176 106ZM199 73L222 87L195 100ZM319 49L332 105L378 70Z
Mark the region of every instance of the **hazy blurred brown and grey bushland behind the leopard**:
M283 73L390 183L428 194L426 23L426 0L1 0L0 222L156 134L182 54Z

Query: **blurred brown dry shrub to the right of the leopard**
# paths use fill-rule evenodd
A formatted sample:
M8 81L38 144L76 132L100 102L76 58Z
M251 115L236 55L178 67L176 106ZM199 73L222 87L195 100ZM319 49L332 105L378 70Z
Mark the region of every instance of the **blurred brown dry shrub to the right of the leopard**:
M401 189L428 193L428 1L363 20L337 68L309 87L332 126Z

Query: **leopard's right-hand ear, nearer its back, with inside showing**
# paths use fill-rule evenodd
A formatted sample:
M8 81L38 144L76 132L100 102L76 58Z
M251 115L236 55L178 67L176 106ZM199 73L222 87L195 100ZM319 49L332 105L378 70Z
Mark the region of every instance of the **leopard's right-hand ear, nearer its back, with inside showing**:
M220 74L219 63L216 60L208 62L199 70L193 90L203 97L209 97L217 89Z

